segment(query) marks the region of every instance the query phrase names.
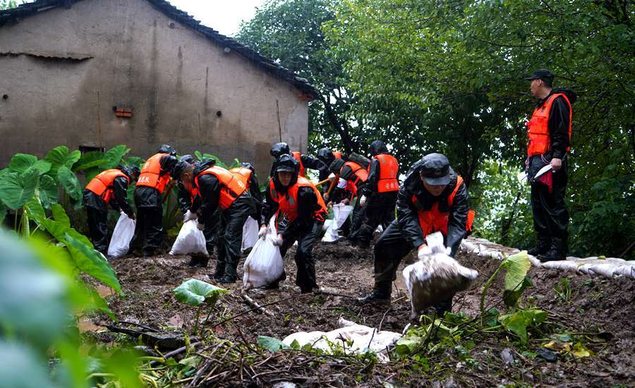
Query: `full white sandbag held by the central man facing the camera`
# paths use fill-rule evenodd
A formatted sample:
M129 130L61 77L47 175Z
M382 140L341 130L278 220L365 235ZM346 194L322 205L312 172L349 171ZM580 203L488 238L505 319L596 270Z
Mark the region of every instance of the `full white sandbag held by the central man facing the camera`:
M277 281L284 272L280 248L274 245L277 230L274 215L269 222L269 231L264 239L258 238L243 266L245 290L266 286Z

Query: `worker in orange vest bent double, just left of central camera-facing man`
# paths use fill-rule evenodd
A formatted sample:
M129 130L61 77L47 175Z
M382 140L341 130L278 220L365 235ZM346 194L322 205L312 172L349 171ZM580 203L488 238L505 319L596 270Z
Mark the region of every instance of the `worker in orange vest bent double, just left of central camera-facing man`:
M193 197L200 197L191 212L198 218L198 229L212 222L214 211L221 210L218 230L218 258L213 278L219 283L234 283L241 258L243 224L256 211L255 202L247 190L247 179L241 174L215 166L214 163L189 165L181 172L183 186Z

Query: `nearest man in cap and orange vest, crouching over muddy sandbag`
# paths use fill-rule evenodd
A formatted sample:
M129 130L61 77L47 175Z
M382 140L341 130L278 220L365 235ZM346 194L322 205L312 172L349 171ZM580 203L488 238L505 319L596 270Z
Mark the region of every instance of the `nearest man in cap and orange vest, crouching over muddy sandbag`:
M425 236L435 231L441 232L454 257L471 231L473 216L463 178L449 166L447 157L427 154L413 164L399 189L397 219L375 243L375 288L360 302L389 303L399 262L413 248L424 258ZM437 310L450 310L452 297L437 305Z

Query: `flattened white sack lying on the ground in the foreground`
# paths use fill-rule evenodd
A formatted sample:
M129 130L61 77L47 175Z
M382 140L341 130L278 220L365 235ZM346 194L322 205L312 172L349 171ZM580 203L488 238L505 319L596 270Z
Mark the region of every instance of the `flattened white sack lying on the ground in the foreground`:
M300 346L313 345L326 353L333 353L336 349L344 350L346 354L373 351L381 363L389 361L387 348L401 338L401 334L382 330L378 332L373 327L357 325L344 319L338 322L340 328L330 332L298 332L285 337L282 342L291 346L298 341ZM351 343L349 345L349 343Z

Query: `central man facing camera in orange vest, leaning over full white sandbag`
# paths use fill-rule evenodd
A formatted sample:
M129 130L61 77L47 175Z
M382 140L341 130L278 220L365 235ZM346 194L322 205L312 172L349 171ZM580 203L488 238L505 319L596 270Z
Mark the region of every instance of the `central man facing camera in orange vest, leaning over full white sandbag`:
M283 154L276 162L276 171L265 191L265 206L260 218L259 237L267 235L267 223L277 214L277 245L284 257L286 250L298 241L296 250L296 284L302 293L317 289L313 244L322 230L327 208L322 195L308 179L298 176L298 162L289 154ZM280 219L286 216L289 223L281 226Z

